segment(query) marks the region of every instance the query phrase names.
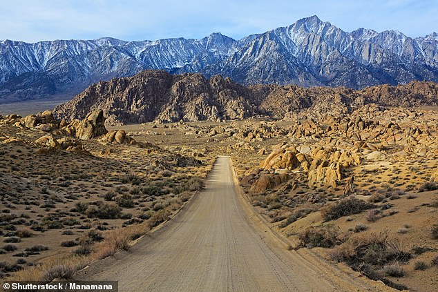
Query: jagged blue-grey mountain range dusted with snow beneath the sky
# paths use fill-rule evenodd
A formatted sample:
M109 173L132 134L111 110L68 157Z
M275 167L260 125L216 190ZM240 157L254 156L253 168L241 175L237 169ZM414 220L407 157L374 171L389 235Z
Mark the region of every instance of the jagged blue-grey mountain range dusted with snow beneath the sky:
M222 75L249 84L365 88L438 81L438 35L407 37L396 30L345 32L318 17L240 40L0 41L0 103L73 97L99 80L145 69Z

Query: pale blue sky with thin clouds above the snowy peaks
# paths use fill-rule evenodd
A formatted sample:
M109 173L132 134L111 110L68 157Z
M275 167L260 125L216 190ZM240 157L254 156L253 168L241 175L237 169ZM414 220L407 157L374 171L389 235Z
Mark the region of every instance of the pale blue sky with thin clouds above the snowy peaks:
M347 32L361 27L410 37L438 32L436 0L2 0L0 39L140 41L200 39L211 32L240 39L314 14Z

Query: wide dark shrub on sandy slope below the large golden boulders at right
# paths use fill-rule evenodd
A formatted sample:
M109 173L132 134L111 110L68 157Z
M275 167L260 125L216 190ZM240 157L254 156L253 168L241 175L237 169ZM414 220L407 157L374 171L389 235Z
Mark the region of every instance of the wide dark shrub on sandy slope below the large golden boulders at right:
M347 197L330 206L321 208L321 215L325 221L336 220L340 217L361 213L361 211L375 208L376 205L367 203L362 199Z

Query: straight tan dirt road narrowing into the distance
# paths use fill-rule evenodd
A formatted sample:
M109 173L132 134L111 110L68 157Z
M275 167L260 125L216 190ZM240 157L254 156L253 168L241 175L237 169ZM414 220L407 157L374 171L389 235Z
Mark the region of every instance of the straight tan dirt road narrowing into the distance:
M118 280L123 292L387 290L260 231L236 195L229 163L218 158L205 190L165 228L77 279Z

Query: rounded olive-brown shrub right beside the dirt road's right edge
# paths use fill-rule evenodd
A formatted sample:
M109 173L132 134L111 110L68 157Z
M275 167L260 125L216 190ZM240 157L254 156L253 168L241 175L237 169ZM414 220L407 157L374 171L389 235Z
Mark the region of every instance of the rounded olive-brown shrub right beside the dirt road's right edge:
M301 244L309 249L314 247L330 248L336 244L339 231L332 225L310 226L298 234Z

